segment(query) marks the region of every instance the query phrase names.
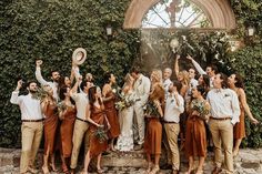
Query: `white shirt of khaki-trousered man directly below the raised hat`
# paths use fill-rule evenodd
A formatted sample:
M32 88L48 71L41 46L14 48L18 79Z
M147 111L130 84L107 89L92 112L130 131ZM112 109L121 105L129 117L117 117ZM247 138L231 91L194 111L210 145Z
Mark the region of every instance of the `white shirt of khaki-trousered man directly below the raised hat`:
M89 99L88 99L88 94L81 92L81 93L73 93L71 94L71 98L74 100L75 102L75 106L77 106L77 117L81 119L81 120L87 120L85 119L85 109L87 105L89 104Z

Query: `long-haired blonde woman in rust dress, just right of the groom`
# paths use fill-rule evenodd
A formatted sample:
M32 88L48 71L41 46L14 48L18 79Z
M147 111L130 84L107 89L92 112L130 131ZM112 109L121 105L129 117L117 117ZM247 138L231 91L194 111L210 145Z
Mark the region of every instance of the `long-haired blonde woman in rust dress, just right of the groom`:
M163 116L161 104L164 101L164 89L160 83L155 83L152 86L152 92L149 95L149 103L155 108L155 112L151 112L147 115L147 132L144 136L144 152L147 154L149 174L155 174L159 172L159 160L161 154L161 141L162 141L162 124L160 117ZM145 111L147 112L147 111ZM152 166L151 155L154 155L154 166Z

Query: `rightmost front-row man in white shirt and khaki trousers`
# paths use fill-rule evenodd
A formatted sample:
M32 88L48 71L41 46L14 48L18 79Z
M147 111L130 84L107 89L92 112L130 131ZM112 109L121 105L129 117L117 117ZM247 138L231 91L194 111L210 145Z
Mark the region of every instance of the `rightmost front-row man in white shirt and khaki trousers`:
M239 122L240 106L236 93L226 84L228 76L218 73L213 80L213 86L206 96L211 105L210 131L214 143L215 168L212 174L219 174L221 170L221 144L224 150L224 163L228 174L234 172L233 166L233 126Z

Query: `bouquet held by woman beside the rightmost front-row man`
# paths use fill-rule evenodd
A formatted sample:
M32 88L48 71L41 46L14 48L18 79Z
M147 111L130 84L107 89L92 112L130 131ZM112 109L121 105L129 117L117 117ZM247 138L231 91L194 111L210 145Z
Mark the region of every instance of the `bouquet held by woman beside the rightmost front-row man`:
M210 114L210 106L205 101L193 100L191 103L191 109L198 111L198 115L202 120L206 120L206 115Z

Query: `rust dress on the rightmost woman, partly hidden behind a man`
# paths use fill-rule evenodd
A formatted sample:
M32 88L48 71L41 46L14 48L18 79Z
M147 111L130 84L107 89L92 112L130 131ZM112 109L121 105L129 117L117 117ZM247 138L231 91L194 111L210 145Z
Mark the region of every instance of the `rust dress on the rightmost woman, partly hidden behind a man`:
M239 96L239 101L241 101L239 90L236 91L236 94ZM240 122L235 123L234 125L234 139L243 137L245 137L244 108L240 102Z

